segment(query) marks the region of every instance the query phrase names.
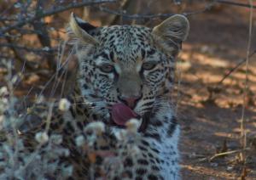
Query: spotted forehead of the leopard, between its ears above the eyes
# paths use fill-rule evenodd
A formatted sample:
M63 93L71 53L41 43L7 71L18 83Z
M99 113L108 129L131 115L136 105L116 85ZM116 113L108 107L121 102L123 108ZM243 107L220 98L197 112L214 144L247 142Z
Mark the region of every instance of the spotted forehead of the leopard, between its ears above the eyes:
M139 25L113 25L102 27L97 38L105 53L113 53L120 62L135 62L152 48L150 32L148 27Z

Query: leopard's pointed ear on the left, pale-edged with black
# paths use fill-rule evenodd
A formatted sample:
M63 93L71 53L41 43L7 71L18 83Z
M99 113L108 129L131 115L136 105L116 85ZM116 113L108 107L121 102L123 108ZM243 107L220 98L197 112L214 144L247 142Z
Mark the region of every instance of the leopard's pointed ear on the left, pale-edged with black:
M79 41L84 43L89 43L92 45L99 44L95 37L90 36L89 32L96 29L96 26L90 25L88 22L81 20L72 13L69 22L69 34L79 39Z

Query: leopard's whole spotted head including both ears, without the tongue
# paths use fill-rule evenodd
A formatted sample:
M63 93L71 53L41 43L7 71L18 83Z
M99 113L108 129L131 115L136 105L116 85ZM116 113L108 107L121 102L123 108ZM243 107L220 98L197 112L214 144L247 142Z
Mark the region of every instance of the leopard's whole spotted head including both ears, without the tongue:
M143 116L172 88L174 63L189 21L173 15L153 29L142 25L95 27L71 15L82 96L108 110L126 104ZM107 115L108 116L108 115Z

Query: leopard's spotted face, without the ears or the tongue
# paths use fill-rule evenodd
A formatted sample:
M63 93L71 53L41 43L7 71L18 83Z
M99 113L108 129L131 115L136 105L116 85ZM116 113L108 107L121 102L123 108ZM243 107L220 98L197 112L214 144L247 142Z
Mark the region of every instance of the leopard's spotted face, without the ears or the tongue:
M83 95L102 101L109 109L125 103L138 115L151 110L165 87L171 59L154 46L150 29L112 26L102 28L96 38L101 45L80 60Z

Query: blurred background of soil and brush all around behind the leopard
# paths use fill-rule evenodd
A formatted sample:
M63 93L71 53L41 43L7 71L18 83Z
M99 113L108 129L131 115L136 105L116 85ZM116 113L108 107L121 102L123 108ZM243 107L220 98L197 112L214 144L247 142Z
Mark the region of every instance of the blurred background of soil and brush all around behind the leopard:
M1 0L0 87L12 81L20 106L70 92L71 12L96 26L149 27L185 14L190 33L173 91L183 179L256 179L255 9L247 0Z

